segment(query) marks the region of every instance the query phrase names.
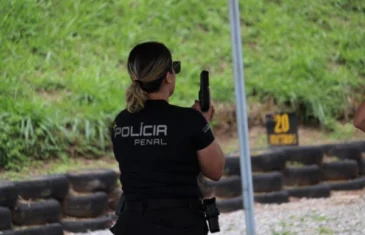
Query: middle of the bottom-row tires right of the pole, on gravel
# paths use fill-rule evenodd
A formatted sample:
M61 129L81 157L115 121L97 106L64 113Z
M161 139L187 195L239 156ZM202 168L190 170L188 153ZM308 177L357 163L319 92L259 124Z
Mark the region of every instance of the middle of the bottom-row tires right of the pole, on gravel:
M331 196L331 188L326 184L286 189L290 197L327 198Z

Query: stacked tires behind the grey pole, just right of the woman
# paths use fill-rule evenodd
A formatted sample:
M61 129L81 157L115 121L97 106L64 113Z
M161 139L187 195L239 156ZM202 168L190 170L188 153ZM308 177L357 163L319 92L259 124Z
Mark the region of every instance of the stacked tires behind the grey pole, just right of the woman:
M221 212L231 212L243 208L242 181L238 156L226 158L224 178L215 182L205 179L201 183L204 197L216 197ZM257 203L285 203L288 193L283 190L281 171L285 168L285 156L282 151L252 156L254 201Z

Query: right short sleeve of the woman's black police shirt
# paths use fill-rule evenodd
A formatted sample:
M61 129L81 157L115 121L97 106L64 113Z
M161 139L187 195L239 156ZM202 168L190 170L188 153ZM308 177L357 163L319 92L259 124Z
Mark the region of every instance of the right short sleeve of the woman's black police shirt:
M201 150L210 145L215 137L204 116L199 111L192 110L192 120L188 125L191 127L191 137L195 150Z

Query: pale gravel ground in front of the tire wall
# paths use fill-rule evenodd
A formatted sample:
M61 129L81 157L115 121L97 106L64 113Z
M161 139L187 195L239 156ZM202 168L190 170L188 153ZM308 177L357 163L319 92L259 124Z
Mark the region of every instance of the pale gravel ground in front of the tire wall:
M281 205L256 204L257 235L365 234L365 190L333 192L327 199L292 200ZM221 232L246 234L244 211L220 215ZM112 235L109 231L77 235Z

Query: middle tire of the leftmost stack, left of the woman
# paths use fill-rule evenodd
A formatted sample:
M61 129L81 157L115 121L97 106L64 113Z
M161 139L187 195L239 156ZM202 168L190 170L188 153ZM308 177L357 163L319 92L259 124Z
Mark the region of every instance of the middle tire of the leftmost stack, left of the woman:
M55 199L40 202L18 202L13 213L13 223L20 226L58 223L61 206Z

